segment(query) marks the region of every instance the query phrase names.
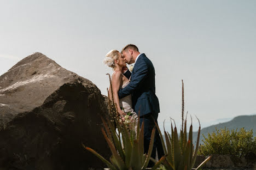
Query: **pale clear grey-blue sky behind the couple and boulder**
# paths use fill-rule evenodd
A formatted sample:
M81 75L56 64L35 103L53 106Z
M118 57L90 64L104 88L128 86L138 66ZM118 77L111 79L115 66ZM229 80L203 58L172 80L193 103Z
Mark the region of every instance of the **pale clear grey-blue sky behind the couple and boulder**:
M256 113L256 1L2 1L0 75L33 52L106 95L106 53L135 44L156 72L159 122Z

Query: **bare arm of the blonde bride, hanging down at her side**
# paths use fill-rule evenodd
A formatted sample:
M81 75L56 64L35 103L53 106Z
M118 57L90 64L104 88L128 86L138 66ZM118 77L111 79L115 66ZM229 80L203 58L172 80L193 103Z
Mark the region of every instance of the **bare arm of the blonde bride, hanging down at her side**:
M125 114L119 105L119 97L118 97L118 90L123 82L122 73L121 72L115 72L115 74L112 77L112 90L113 90L113 99L114 102L117 104L117 110L120 115Z

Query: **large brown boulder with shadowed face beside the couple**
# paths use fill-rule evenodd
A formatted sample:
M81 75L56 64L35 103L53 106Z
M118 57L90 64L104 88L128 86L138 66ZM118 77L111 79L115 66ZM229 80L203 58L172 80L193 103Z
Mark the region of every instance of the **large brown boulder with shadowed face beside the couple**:
M107 106L91 81L33 53L0 76L0 169L101 169Z

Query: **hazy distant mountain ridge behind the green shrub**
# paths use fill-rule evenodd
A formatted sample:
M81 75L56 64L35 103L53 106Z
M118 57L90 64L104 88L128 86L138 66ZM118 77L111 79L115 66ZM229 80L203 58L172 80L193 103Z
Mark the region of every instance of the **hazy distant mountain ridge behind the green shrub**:
M249 115L249 116L237 116L230 120L229 122L219 123L216 125L211 125L208 127L205 127L201 129L200 132L200 143L202 144L203 136L207 136L208 133L212 133L213 131L216 131L215 128L218 129L226 129L232 130L232 129L241 129L242 127L245 127L246 130L253 130L253 135L256 136L256 114L255 115ZM196 143L197 139L197 132L193 132L193 143Z

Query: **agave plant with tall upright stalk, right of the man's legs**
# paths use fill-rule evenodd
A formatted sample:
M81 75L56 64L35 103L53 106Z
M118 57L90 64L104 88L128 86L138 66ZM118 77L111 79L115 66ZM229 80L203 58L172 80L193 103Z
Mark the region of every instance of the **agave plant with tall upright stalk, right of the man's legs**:
M175 122L174 122L174 125L175 125ZM176 125L174 126L174 129L173 129L172 123L171 123L171 135L170 133L166 132L164 129L165 141L162 137L162 133L159 129L158 124L156 124L156 127L160 133L162 146L164 149L164 153L166 155L166 157L164 158L164 161L162 161L162 164L165 166L165 168L167 170L192 169L196 161L201 127L199 122L197 142L194 150L194 145L192 142L193 141L192 123L189 128L189 135L187 136L187 116L184 120L183 81L182 81L182 128L181 128L181 133L179 137L178 137ZM204 163L206 163L210 159L211 157L207 157L207 159L203 161L196 169L199 169Z

